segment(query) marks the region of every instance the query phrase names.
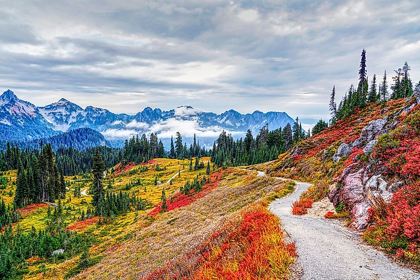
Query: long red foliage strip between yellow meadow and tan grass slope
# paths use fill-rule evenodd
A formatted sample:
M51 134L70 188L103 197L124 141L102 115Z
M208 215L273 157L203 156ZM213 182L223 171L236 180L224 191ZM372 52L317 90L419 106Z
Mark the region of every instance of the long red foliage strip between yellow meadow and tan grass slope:
M218 172L214 172L210 174L210 183L207 183L203 186L203 189L199 192L195 192L194 190L191 190L191 193L188 195L182 194L181 192L177 192L173 195L173 197L176 197L172 203L170 203L170 198L167 199L167 211L174 210L180 207L187 206L191 204L192 202L196 201L197 199L200 199L207 194L209 194L213 189L219 186L221 179L223 176L225 176L227 173L231 172L228 170L221 170ZM159 205L153 209L148 215L154 216L162 211L162 202L159 203Z

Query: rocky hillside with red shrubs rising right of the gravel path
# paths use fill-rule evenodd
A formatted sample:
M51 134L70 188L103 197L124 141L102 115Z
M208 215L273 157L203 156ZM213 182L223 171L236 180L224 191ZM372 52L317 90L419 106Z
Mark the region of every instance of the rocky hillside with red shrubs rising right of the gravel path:
M419 266L419 104L419 92L370 103L252 168L313 183L302 199L328 196L364 240Z

